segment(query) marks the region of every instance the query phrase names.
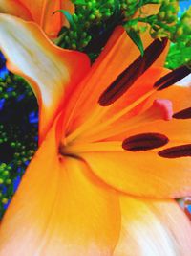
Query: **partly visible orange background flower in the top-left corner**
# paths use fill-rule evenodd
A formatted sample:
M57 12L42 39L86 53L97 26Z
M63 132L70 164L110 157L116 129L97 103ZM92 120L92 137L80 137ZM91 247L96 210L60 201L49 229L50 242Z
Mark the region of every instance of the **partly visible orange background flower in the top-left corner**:
M56 37L63 25L68 25L64 15L57 10L74 12L70 0L0 0L0 12L36 22L50 37Z

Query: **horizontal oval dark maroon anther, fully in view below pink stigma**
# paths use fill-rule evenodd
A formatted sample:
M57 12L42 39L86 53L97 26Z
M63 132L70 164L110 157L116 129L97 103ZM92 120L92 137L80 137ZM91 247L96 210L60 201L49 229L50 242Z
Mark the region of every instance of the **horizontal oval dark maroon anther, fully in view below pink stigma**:
M168 141L160 133L142 133L125 139L122 148L125 151L149 151L164 146Z

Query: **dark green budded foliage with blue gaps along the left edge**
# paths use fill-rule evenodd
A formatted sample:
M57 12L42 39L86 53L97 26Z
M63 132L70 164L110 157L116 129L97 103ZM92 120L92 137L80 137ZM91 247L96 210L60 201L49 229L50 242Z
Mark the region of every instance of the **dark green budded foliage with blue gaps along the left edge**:
M26 81L10 74L0 78L0 218L14 193L15 180L21 177L37 148L37 126L29 123L29 113L37 110L36 100Z

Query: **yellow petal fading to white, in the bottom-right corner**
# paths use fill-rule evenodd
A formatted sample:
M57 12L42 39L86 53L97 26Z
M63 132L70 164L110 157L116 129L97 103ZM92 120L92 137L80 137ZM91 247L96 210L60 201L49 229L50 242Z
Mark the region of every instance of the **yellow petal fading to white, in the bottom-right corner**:
M114 256L188 256L191 223L174 201L121 197L122 228Z

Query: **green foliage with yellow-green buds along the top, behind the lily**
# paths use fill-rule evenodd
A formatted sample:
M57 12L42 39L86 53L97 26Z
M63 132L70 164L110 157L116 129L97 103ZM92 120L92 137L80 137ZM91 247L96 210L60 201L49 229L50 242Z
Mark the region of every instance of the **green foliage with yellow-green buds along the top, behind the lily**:
M177 0L74 0L73 2L75 13L68 17L71 27L63 27L55 43L62 48L85 52L93 61L119 24L124 26L138 46L141 55L143 55L143 46L140 35L145 31L149 31L153 38L168 37L172 42L177 42L180 37L189 41L191 36L191 26L186 25L189 24L188 21L190 22L189 12L179 20ZM154 13L147 13L145 8L151 4ZM181 31L183 34L180 36Z

